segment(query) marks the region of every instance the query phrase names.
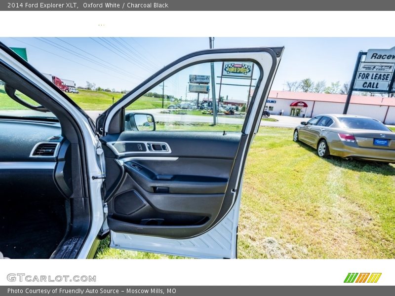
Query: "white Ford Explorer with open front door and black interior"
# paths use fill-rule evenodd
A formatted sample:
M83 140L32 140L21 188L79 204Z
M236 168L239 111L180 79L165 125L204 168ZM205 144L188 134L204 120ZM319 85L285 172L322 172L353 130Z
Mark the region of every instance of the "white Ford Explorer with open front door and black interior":
M92 258L110 233L114 248L236 258L244 163L282 51L189 54L135 87L95 123L0 44L3 97L16 106L0 110L0 252L11 259ZM166 125L155 118L166 114L133 110L133 102L146 100L144 94L164 80L177 78L185 90L189 74L209 75L222 62L233 63L237 74L248 74L253 65L255 91L240 131L166 130L183 123Z

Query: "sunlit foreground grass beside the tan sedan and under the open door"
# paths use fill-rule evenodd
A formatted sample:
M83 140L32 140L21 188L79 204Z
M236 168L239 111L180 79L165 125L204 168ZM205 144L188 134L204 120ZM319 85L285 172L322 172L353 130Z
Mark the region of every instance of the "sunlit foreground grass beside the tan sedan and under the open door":
M249 151L238 258L395 258L395 166L319 158L292 129L260 127ZM96 258L175 258L109 249Z

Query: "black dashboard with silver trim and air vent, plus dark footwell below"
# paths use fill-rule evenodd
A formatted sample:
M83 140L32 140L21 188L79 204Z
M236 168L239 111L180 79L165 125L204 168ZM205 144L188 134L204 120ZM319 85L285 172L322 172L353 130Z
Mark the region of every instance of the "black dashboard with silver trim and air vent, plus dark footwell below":
M49 258L67 228L67 196L56 182L67 140L56 120L0 117L0 252ZM63 154L63 156L62 156ZM63 173L66 165L63 167ZM62 184L63 183L63 184Z

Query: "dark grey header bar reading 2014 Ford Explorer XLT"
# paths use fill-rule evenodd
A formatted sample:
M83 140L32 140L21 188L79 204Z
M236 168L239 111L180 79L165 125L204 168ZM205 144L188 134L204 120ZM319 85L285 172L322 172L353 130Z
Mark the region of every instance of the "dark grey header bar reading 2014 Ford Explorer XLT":
M242 21L248 15L237 11L393 11L395 1L388 0L6 0L0 2L3 11L235 11L230 19ZM372 12L372 19L380 19L380 13ZM334 14L334 22L336 15Z

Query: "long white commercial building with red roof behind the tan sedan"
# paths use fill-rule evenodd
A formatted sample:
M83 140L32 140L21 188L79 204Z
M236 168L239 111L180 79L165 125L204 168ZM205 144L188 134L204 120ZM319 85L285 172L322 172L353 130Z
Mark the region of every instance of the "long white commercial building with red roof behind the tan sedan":
M271 114L314 117L322 113L343 113L347 95L271 91L265 110ZM395 124L395 97L352 96L348 114L370 116Z

